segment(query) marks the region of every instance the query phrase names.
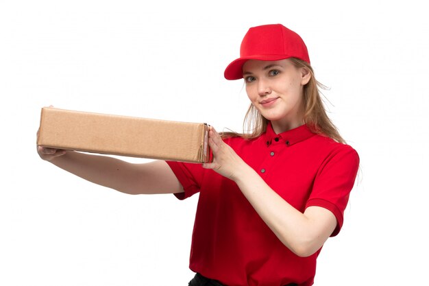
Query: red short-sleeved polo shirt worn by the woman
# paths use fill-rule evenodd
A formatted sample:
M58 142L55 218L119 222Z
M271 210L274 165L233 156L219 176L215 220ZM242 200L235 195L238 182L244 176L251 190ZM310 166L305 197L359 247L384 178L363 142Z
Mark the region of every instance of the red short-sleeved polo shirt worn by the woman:
M225 139L286 202L304 213L321 206L343 225L358 171L356 151L312 133L306 125L275 134L271 124L257 139ZM183 200L199 192L190 268L228 286L313 284L319 251L298 257L286 248L235 182L199 164L167 162L184 187Z

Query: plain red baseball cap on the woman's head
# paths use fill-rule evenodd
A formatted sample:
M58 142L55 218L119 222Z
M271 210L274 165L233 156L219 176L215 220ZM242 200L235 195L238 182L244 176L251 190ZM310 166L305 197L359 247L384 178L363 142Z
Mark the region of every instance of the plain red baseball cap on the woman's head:
M243 64L247 60L284 60L299 58L310 63L304 40L284 25L262 25L251 27L240 47L240 58L225 69L227 80L243 78Z

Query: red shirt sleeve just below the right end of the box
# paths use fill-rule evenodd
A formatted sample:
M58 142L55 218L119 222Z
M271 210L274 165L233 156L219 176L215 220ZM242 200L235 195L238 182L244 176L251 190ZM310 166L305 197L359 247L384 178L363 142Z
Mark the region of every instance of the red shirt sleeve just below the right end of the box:
M176 198L184 200L200 191L202 178L204 176L202 164L175 161L166 162L184 189L184 193L174 194Z

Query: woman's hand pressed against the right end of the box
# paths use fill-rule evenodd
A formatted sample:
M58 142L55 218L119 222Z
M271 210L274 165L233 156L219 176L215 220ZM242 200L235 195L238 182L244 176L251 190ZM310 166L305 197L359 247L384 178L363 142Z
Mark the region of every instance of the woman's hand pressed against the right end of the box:
M249 167L228 144L223 142L212 126L208 132L208 144L213 152L213 162L204 163L204 168L213 169L226 178L236 180L243 168Z

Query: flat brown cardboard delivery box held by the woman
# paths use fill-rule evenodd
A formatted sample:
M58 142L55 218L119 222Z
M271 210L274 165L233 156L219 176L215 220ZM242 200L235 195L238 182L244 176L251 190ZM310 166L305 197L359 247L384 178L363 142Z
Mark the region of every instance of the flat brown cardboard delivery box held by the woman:
M210 162L206 123L42 108L37 144L99 154Z

